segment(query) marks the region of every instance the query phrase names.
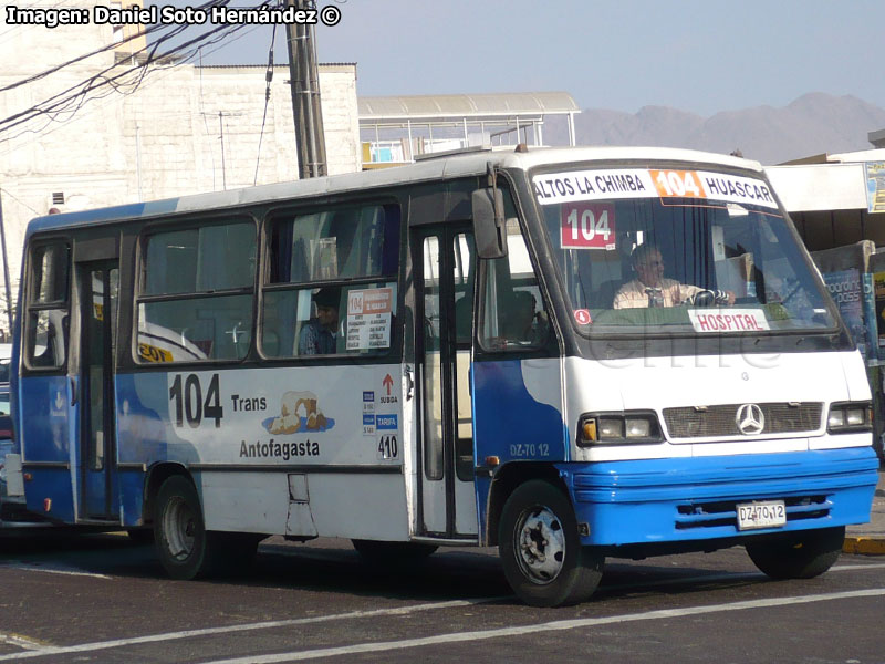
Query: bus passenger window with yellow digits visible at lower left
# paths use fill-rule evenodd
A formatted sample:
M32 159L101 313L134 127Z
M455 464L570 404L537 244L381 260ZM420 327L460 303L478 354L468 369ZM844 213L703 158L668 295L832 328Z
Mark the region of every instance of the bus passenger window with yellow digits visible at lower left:
M144 256L138 361L243 359L252 340L254 224L157 232Z

